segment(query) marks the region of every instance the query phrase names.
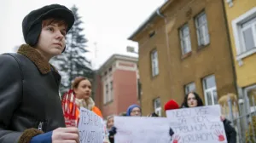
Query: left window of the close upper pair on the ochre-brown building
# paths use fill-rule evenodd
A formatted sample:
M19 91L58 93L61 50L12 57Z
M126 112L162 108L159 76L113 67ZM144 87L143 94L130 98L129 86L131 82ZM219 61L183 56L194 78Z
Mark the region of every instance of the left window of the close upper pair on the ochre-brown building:
M181 47L183 54L187 54L191 51L191 42L189 36L189 25L182 26L179 30Z

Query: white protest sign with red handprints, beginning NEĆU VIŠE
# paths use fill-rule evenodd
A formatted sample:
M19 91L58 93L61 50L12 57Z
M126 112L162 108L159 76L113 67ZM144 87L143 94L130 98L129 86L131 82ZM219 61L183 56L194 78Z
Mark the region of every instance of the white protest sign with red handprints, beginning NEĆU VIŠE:
M218 105L166 111L172 143L227 143L220 115Z

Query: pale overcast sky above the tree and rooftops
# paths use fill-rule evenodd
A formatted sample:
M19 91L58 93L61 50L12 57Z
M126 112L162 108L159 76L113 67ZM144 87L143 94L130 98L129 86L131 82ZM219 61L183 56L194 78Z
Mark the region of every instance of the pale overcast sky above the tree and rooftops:
M148 16L165 0L3 0L0 9L0 54L14 52L15 46L24 43L21 22L33 9L47 4L59 3L79 8L84 21L84 34L89 40L86 56L98 68L112 54L128 54L126 46L137 43L127 40ZM97 52L95 58L95 44Z

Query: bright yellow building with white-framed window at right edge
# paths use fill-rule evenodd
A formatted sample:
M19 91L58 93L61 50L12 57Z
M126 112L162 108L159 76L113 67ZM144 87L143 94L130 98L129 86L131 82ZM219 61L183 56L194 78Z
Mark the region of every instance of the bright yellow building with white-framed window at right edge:
M256 99L256 0L224 0L240 103L253 112ZM256 100L254 106L256 104Z

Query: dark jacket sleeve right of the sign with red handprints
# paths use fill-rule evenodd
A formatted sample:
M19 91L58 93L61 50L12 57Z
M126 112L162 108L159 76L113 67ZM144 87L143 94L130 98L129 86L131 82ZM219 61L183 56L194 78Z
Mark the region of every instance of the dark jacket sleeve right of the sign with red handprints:
M224 119L223 123L228 143L236 143L236 129L231 126L228 119Z

